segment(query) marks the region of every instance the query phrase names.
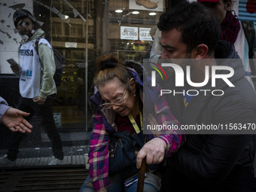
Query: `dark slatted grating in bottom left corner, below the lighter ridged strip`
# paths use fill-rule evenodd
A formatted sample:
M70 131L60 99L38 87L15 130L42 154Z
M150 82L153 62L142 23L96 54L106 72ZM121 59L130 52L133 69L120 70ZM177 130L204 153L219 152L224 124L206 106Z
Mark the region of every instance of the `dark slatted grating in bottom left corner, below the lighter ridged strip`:
M0 191L78 191L89 172L80 169L35 169L2 171L0 173Z

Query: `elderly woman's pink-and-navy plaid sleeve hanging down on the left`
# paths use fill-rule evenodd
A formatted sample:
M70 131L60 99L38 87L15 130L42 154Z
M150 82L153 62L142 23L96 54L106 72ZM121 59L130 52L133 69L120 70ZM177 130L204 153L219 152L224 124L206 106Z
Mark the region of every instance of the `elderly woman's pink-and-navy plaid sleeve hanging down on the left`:
M108 144L109 136L102 122L102 115L94 114L93 132L89 143L89 173L96 191L104 190L111 184L108 178Z

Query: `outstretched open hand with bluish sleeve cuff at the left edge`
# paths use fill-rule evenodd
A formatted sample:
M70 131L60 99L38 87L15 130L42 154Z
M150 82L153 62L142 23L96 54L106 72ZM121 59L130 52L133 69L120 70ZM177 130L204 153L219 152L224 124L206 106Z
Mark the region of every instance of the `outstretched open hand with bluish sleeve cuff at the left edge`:
M12 132L31 133L32 125L23 116L29 116L29 113L9 107L5 99L0 96L0 123Z

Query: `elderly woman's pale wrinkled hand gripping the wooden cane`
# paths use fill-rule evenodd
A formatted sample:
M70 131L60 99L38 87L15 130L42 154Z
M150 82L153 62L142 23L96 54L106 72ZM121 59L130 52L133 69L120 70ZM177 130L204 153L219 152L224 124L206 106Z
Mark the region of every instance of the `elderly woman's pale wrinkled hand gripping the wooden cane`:
M151 139L149 142L145 143L142 149L137 154L137 169L142 166L142 160L146 157L146 163L148 165L161 163L164 159L164 154L166 151L166 142L160 138Z

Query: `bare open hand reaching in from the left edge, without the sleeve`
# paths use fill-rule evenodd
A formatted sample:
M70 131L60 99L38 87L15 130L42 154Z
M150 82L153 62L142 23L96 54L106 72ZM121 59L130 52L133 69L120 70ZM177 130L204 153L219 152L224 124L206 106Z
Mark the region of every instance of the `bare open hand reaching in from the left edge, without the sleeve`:
M29 116L29 113L20 111L17 108L8 108L2 118L2 123L12 132L31 133L32 125L23 116Z

